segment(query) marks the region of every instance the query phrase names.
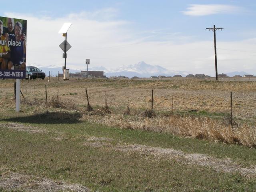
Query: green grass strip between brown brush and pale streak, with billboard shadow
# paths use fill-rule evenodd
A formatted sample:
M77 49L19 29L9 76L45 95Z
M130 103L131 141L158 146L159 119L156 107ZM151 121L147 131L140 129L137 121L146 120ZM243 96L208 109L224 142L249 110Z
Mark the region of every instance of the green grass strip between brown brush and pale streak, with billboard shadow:
M69 137L79 137L84 134L96 137L110 137L125 143L144 144L154 147L173 148L187 153L208 154L217 158L231 158L232 160L250 165L256 162L256 149L238 144L222 144L192 138L180 138L172 134L147 132L142 130L122 130L118 127L107 127L89 122L79 122L81 116L78 112L49 112L40 115L27 115L16 113L12 117L8 113L2 115L3 122L18 122L36 126L54 132L62 132ZM58 117L61 117L60 121ZM1 120L1 119L0 119ZM47 121L47 124L45 122ZM243 154L241 156L241 154Z

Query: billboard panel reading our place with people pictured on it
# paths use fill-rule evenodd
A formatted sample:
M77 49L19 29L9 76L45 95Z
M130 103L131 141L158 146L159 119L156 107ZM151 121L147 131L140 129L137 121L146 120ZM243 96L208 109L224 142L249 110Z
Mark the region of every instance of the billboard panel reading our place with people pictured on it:
M0 17L0 79L26 75L27 20Z

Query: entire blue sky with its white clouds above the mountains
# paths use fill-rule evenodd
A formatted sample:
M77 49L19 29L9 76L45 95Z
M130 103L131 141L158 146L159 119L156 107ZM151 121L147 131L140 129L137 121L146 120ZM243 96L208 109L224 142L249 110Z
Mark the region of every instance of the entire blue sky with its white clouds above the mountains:
M58 29L63 22L73 22L68 34L72 45L68 52L70 68L83 69L86 57L92 59L94 66L106 68L145 61L170 70L214 74L209 69L214 66L213 32L204 29L215 24L224 28L217 32L219 71L256 73L256 1L24 0L20 3L14 0L12 3L19 6L10 8L2 4L2 16L28 20L27 60L31 64L62 66L58 45L63 38ZM46 37L39 46L34 42L40 34ZM39 60L37 56L42 53L48 58Z

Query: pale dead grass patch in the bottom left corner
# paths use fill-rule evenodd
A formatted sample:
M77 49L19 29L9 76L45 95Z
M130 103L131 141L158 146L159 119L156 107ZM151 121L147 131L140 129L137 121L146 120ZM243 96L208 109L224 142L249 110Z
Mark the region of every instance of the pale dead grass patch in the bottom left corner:
M65 182L54 182L49 179L39 179L35 176L19 173L5 173L0 176L0 190L11 191L76 191L88 192L89 189L78 184L66 184Z

